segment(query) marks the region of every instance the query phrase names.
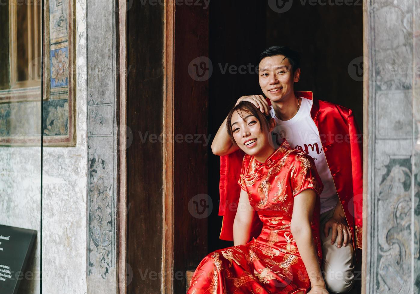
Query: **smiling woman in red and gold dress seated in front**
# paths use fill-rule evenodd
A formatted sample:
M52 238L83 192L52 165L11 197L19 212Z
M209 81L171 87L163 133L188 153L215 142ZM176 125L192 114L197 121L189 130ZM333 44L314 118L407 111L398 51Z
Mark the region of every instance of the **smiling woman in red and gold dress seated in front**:
M320 271L323 185L312 158L286 140L274 149L274 119L250 102L236 105L226 126L232 142L246 153L234 246L208 254L187 293L328 294ZM255 211L263 227L249 241Z

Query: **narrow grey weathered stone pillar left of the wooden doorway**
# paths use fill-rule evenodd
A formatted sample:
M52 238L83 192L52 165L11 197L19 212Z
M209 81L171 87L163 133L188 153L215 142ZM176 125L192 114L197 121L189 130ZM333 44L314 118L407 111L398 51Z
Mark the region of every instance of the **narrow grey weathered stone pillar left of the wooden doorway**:
M87 292L116 293L116 1L87 2Z

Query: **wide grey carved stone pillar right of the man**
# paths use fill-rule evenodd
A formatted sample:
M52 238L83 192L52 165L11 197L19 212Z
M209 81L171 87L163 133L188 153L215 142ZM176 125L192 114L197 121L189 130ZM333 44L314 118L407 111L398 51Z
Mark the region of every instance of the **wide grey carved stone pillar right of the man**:
M366 293L419 291L419 0L367 1Z

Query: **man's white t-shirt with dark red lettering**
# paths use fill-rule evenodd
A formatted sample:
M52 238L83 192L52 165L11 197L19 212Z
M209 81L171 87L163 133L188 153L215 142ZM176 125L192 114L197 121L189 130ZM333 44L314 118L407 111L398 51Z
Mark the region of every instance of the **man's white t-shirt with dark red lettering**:
M286 138L290 147L310 155L314 161L318 174L324 184L324 190L320 195L321 213L336 207L337 191L324 149L321 144L318 128L311 117L312 100L303 98L299 111L288 121L282 121L276 117L273 106L270 106L270 115L276 120L276 128L273 130L274 147L279 147Z

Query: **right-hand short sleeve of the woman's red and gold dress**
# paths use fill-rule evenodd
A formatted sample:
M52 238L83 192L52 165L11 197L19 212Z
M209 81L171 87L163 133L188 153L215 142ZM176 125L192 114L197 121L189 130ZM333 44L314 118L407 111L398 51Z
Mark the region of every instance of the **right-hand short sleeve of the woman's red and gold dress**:
M305 189L312 189L318 195L321 194L324 185L316 170L315 162L309 155L298 154L294 156L291 187L293 189L293 197Z

